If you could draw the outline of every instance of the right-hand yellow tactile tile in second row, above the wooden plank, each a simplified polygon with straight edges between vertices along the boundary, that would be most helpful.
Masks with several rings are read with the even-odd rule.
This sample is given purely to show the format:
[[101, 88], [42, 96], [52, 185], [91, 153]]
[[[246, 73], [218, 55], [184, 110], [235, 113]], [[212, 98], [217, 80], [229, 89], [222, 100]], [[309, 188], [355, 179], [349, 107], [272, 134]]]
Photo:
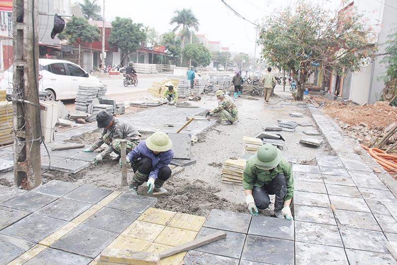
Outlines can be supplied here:
[[167, 226], [154, 240], [154, 243], [175, 247], [181, 245], [182, 243], [194, 240], [197, 234], [198, 232], [195, 231]]

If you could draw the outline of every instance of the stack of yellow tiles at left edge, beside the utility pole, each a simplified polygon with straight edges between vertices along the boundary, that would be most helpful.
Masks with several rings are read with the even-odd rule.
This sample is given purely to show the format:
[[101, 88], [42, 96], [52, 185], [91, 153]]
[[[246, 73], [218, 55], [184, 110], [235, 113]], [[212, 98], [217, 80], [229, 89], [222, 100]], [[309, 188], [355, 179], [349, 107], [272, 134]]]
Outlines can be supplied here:
[[5, 100], [5, 90], [0, 90], [0, 145], [12, 140], [12, 103]]

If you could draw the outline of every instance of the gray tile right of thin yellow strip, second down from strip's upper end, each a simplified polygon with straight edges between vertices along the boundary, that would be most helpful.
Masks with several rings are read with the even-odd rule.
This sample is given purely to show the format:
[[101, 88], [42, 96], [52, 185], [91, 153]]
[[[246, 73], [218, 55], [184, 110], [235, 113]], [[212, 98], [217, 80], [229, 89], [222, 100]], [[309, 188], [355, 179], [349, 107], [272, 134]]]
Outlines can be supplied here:
[[104, 207], [88, 218], [83, 225], [120, 234], [129, 227], [139, 215], [138, 213]]

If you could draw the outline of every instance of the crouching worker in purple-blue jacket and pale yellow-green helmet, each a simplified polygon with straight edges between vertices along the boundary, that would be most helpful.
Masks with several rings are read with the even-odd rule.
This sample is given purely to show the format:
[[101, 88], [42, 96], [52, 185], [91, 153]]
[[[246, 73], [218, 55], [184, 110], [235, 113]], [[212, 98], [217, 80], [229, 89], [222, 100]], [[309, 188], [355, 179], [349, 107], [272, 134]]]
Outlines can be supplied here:
[[149, 187], [147, 194], [167, 192], [163, 184], [171, 177], [171, 169], [168, 167], [174, 157], [171, 147], [172, 142], [167, 134], [155, 132], [127, 155], [127, 164], [132, 162], [131, 167], [134, 172], [130, 191], [137, 194], [138, 186], [146, 181], [146, 186]]

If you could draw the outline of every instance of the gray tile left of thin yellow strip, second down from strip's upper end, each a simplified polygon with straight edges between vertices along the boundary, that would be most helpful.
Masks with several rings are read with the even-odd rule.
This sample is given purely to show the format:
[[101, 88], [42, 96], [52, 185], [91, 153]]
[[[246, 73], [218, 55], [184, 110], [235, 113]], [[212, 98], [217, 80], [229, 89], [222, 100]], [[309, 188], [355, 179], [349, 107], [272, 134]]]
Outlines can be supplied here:
[[92, 204], [90, 203], [59, 198], [58, 200], [41, 208], [36, 213], [65, 221], [71, 221], [84, 211], [88, 210], [91, 206]]

